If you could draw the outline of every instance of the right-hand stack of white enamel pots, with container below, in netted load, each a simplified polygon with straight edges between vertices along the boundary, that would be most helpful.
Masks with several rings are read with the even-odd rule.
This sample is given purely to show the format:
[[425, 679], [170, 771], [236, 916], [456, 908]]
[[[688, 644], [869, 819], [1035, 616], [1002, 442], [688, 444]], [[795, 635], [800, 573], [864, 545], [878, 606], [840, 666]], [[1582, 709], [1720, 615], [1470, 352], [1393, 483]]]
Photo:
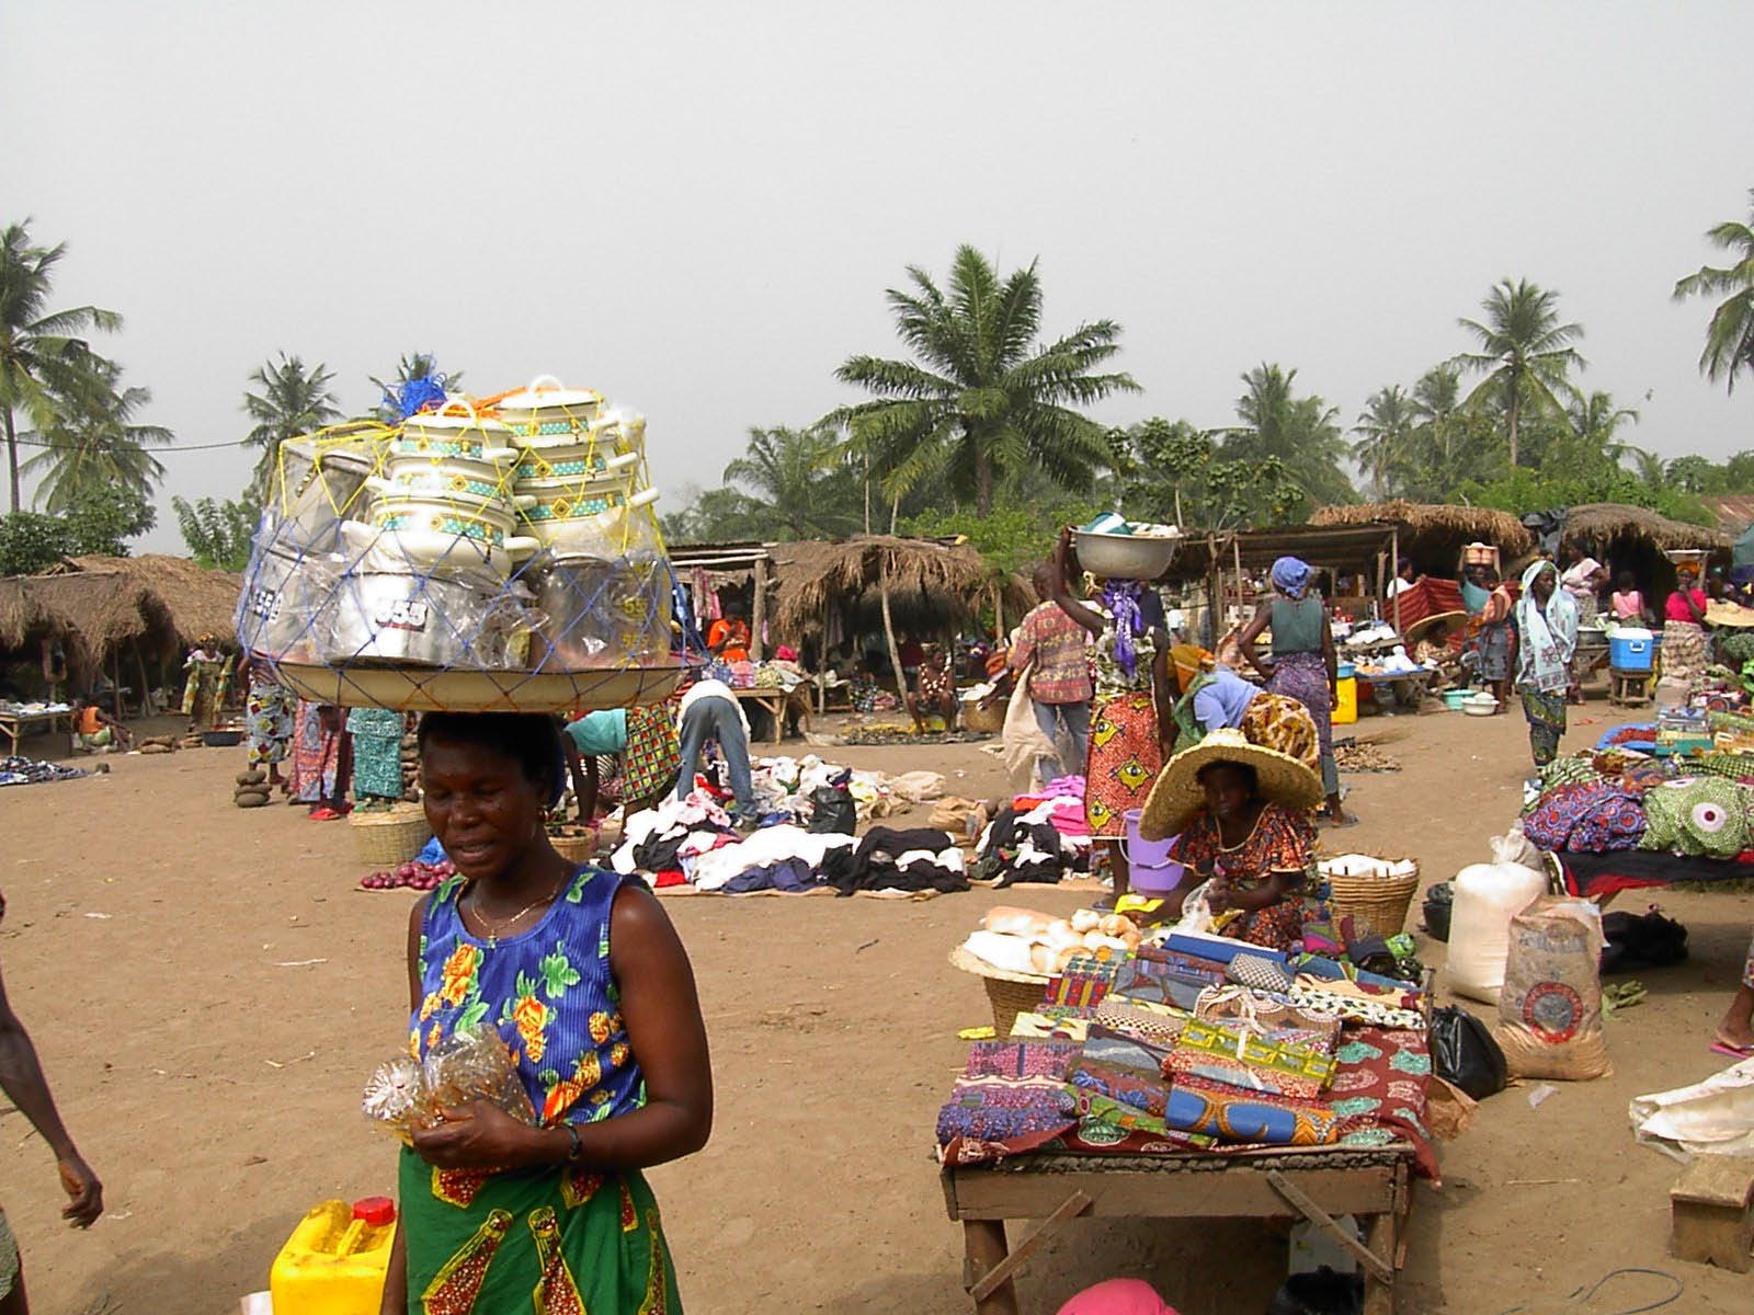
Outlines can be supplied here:
[[535, 668], [649, 666], [670, 652], [670, 570], [644, 482], [645, 421], [607, 410], [591, 389], [537, 379], [500, 398], [517, 449], [519, 537], [540, 558], [531, 584], [544, 617]]

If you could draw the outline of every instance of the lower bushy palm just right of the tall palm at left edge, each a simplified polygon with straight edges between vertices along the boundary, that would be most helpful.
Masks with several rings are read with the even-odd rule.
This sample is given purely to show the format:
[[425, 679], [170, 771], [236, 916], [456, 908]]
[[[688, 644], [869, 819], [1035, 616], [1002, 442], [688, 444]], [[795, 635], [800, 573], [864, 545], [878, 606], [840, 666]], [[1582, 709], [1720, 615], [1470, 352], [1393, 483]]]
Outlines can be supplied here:
[[147, 447], [161, 447], [175, 435], [163, 424], [140, 424], [135, 416], [151, 405], [146, 387], [119, 387], [121, 366], [93, 356], [79, 391], [60, 400], [60, 414], [42, 433], [42, 444], [21, 470], [40, 475], [37, 503], [56, 515], [105, 489], [125, 489], [151, 501], [165, 477], [163, 463]]

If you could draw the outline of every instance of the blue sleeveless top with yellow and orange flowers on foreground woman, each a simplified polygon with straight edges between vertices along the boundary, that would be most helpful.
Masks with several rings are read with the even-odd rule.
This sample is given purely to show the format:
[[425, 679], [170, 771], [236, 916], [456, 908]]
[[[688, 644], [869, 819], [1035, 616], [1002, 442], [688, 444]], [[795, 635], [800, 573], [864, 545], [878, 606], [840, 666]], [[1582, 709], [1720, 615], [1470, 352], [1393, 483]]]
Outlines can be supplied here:
[[621, 1022], [609, 971], [609, 912], [626, 877], [584, 866], [530, 931], [481, 940], [463, 928], [453, 877], [421, 924], [421, 1006], [410, 1019], [416, 1057], [447, 1036], [498, 1027], [530, 1101], [547, 1126], [637, 1110], [645, 1082]]

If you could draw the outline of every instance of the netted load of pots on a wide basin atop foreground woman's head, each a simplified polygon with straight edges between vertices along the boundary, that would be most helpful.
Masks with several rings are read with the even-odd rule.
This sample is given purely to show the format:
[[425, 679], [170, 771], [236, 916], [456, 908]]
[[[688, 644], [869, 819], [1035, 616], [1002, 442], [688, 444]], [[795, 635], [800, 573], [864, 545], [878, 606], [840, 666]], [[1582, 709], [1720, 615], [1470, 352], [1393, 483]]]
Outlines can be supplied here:
[[324, 703], [663, 698], [682, 658], [645, 421], [542, 384], [282, 444], [240, 643]]

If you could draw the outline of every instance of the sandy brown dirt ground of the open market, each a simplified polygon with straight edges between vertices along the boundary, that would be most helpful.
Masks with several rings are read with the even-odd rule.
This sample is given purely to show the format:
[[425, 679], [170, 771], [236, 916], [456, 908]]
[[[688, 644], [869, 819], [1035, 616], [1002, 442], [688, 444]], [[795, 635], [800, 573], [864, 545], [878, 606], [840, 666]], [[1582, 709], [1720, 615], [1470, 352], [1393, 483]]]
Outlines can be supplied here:
[[[1608, 722], [1593, 703], [1572, 742]], [[1521, 717], [1366, 719], [1358, 735], [1405, 770], [1349, 778], [1363, 824], [1330, 847], [1410, 854], [1428, 880], [1489, 857], [1528, 766]], [[1002, 789], [973, 745], [837, 756], [940, 770], [972, 796]], [[393, 1143], [361, 1120], [358, 1094], [405, 1034], [414, 896], [354, 889], [346, 824], [233, 808], [237, 750], [109, 763], [105, 777], [0, 791], [7, 989], [109, 1210], [88, 1234], [63, 1229], [49, 1155], [12, 1110], [4, 1205], [37, 1311], [219, 1315], [267, 1287], [310, 1203], [393, 1187]], [[965, 1054], [956, 1029], [989, 1020], [979, 980], [945, 956], [1000, 901], [1070, 912], [1082, 898], [667, 901], [700, 977], [719, 1099], [710, 1145], [651, 1175], [691, 1311], [972, 1310], [933, 1122]], [[1661, 903], [1687, 924], [1691, 961], [1645, 973], [1647, 1003], [1607, 1024], [1612, 1077], [1538, 1108], [1512, 1087], [1444, 1148], [1442, 1191], [1417, 1194], [1403, 1311], [1607, 1313], [1666, 1292], [1628, 1278], [1561, 1306], [1619, 1266], [1682, 1278], [1670, 1310], [1749, 1310], [1747, 1276], [1666, 1254], [1677, 1166], [1633, 1143], [1626, 1105], [1726, 1063], [1707, 1043], [1754, 898]], [[1422, 943], [1440, 963], [1442, 945]], [[1265, 1310], [1282, 1273], [1282, 1236], [1254, 1222], [1073, 1222], [1019, 1292], [1037, 1315], [1138, 1275], [1184, 1315], [1230, 1315]]]

